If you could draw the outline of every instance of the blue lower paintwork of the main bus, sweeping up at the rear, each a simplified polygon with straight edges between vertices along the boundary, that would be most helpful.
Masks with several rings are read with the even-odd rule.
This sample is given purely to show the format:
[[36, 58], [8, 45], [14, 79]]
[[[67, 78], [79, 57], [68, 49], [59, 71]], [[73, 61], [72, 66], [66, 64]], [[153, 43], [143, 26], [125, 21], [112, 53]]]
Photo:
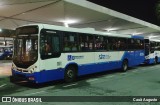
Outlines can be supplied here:
[[[139, 54], [140, 52], [143, 52], [143, 51], [138, 51], [137, 53]], [[134, 53], [133, 51], [125, 52], [120, 61], [101, 62], [101, 63], [97, 62], [97, 63], [78, 65], [78, 76], [96, 73], [96, 72], [120, 69], [124, 59], [128, 59], [129, 67], [133, 67], [144, 62], [144, 57], [136, 58], [134, 56], [135, 54], [133, 53]], [[33, 74], [26, 74], [26, 73], [21, 73], [21, 72], [12, 70], [12, 73], [13, 73], [13, 76], [19, 74], [19, 75], [23, 75], [27, 79], [29, 77], [35, 77], [35, 81], [32, 81], [32, 82], [43, 83], [43, 82], [49, 82], [53, 80], [64, 79], [64, 71], [65, 71], [65, 68], [53, 69], [53, 70], [42, 70], [40, 72], [35, 72]]]

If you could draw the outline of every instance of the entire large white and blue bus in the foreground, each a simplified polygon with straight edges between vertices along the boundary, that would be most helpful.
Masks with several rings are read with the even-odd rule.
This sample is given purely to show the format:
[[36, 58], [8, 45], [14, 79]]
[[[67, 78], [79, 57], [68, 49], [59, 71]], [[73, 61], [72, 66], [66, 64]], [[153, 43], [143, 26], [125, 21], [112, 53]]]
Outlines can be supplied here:
[[18, 27], [12, 77], [34, 83], [133, 67], [144, 62], [144, 38], [94, 29], [35, 24]]

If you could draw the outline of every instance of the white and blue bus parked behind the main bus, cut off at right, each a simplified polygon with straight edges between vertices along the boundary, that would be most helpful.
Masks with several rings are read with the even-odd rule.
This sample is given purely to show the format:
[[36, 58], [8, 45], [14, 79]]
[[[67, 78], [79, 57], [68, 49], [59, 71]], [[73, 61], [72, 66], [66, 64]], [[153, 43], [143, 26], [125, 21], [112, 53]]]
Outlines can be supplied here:
[[160, 62], [160, 40], [145, 39], [145, 63], [157, 64]]

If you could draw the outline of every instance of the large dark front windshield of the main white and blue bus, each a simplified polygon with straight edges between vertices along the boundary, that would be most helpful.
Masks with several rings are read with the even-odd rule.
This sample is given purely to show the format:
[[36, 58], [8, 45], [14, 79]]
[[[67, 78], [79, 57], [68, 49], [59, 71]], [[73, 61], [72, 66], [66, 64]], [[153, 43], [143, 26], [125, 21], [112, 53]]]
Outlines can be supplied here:
[[16, 30], [13, 62], [18, 67], [27, 68], [34, 64], [38, 58], [38, 31], [37, 34], [35, 32], [32, 34], [30, 29], [31, 27], [23, 27], [18, 29], [18, 32]]

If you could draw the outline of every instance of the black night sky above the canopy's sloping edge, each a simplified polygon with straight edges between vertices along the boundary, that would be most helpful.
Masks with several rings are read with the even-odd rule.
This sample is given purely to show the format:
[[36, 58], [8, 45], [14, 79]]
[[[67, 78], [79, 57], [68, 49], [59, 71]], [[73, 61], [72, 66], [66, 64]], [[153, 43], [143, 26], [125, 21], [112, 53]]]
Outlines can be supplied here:
[[101, 6], [160, 26], [156, 15], [159, 0], [88, 0]]

